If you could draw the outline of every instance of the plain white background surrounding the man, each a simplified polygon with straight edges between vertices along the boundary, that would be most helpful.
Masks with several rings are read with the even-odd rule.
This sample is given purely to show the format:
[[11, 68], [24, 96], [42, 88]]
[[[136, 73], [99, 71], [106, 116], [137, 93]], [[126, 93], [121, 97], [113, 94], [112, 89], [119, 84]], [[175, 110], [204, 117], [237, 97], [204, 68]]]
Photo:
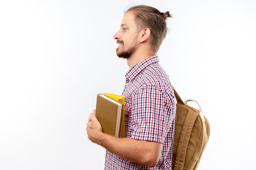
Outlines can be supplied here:
[[112, 37], [132, 3], [173, 14], [158, 54], [209, 119], [198, 170], [254, 167], [255, 0], [1, 0], [0, 170], [103, 169], [85, 127], [97, 93], [124, 88]]

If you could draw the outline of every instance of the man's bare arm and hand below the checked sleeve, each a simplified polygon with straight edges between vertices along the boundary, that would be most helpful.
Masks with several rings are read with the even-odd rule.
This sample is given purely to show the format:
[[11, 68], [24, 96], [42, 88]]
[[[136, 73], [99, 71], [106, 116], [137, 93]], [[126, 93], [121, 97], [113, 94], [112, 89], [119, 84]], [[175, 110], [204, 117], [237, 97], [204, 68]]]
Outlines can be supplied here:
[[161, 143], [132, 138], [118, 138], [103, 133], [101, 124], [95, 116], [95, 110], [90, 114], [86, 130], [88, 139], [92, 142], [129, 161], [154, 167], [161, 157], [163, 147]]

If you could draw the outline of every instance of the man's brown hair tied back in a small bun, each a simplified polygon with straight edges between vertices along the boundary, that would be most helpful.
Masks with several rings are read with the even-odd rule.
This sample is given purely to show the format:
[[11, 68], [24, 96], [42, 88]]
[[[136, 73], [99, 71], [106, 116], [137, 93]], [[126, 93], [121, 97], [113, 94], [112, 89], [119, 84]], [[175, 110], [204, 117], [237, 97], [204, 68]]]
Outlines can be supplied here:
[[135, 15], [137, 29], [150, 29], [150, 44], [153, 53], [157, 53], [167, 34], [166, 19], [172, 17], [169, 11], [163, 13], [154, 7], [146, 5], [137, 5], [130, 7], [125, 11], [132, 12]]

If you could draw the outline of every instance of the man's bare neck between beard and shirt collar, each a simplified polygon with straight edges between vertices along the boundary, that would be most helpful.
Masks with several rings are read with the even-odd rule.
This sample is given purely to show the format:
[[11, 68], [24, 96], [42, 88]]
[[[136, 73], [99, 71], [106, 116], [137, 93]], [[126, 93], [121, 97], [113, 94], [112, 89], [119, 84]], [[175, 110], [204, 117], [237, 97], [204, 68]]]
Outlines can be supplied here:
[[127, 58], [127, 65], [132, 68], [140, 61], [144, 60], [147, 57], [150, 57], [154, 55], [154, 53], [151, 53], [149, 51], [136, 51], [134, 54], [132, 54], [129, 58]]

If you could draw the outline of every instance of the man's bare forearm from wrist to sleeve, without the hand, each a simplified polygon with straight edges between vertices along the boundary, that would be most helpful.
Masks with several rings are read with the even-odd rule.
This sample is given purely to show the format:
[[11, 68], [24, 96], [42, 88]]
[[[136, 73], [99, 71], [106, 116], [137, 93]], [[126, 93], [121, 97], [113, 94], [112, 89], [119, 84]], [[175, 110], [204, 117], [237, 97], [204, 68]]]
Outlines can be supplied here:
[[101, 133], [99, 138], [99, 145], [132, 162], [153, 167], [161, 157], [162, 144], [158, 142], [118, 138], [105, 133]]

